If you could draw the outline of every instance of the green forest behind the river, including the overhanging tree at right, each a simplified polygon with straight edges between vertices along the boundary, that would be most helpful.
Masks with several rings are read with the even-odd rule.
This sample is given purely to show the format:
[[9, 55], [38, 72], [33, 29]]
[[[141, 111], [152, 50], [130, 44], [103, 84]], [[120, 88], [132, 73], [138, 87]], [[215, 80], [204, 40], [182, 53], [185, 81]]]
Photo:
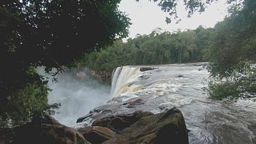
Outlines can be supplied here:
[[256, 97], [256, 1], [228, 1], [228, 15], [214, 28], [161, 31], [116, 41], [99, 52], [84, 54], [78, 66], [111, 71], [122, 65], [152, 65], [208, 61], [212, 99]]

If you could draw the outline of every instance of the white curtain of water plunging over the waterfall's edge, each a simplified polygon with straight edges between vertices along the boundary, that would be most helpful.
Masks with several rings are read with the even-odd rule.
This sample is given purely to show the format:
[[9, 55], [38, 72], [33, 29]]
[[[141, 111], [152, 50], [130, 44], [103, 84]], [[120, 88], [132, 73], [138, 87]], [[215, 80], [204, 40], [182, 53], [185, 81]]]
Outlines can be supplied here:
[[140, 77], [140, 67], [123, 66], [113, 70], [111, 81], [111, 95], [118, 97], [121, 93], [140, 90], [140, 86], [132, 86], [131, 82]]

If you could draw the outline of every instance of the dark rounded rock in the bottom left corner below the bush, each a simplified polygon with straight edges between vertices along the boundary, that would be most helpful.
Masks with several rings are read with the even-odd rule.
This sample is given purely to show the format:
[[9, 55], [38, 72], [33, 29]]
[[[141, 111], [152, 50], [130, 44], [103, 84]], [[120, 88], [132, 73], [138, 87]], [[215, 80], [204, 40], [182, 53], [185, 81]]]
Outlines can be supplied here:
[[[32, 122], [8, 129], [5, 138], [10, 138], [10, 143], [18, 144], [85, 144], [82, 134], [76, 129], [60, 124], [48, 115], [35, 118]], [[2, 135], [2, 134], [0, 134]], [[9, 136], [8, 136], [9, 135]], [[2, 143], [2, 142], [1, 142]]]

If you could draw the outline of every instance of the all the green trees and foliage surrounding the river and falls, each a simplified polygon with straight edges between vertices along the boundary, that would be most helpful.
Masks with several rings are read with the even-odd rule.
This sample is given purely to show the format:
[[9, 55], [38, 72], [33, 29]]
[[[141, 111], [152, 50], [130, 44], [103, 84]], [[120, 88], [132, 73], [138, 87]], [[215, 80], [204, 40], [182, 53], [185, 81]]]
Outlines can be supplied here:
[[[138, 0], [134, 0], [138, 1]], [[183, 1], [188, 17], [218, 0]], [[166, 22], [177, 16], [177, 0], [154, 1]], [[40, 113], [53, 113], [45, 67], [52, 76], [64, 67], [87, 65], [112, 70], [120, 65], [209, 61], [207, 92], [214, 99], [252, 99], [256, 93], [256, 1], [227, 0], [228, 15], [215, 28], [159, 29], [122, 42], [131, 25], [118, 10], [120, 0], [0, 1], [0, 127], [22, 125]], [[112, 45], [113, 44], [113, 45]], [[109, 46], [112, 45], [112, 46]], [[101, 51], [99, 51], [101, 49]], [[97, 52], [98, 51], [98, 52]], [[86, 53], [86, 54], [84, 54]], [[79, 61], [79, 62], [77, 62]], [[56, 73], [51, 73], [56, 68]]]

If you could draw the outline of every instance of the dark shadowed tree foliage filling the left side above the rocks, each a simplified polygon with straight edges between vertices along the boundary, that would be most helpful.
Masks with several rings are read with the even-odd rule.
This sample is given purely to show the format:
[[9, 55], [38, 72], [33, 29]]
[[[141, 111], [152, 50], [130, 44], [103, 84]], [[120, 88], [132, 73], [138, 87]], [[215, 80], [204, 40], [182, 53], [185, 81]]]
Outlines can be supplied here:
[[36, 67], [63, 71], [84, 52], [128, 35], [130, 19], [118, 10], [118, 3], [0, 1], [1, 125], [23, 124], [36, 113], [58, 106], [47, 104], [47, 79]]

